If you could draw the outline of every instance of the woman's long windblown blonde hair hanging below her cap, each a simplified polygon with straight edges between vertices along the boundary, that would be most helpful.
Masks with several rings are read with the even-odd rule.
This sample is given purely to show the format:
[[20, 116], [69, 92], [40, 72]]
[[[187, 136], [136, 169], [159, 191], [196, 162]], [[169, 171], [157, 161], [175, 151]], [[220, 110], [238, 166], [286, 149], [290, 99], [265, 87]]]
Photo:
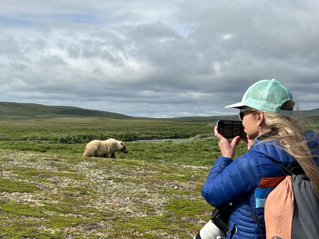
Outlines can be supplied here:
[[[282, 109], [292, 110], [293, 102], [286, 102]], [[257, 110], [252, 109], [252, 111]], [[314, 162], [316, 156], [312, 155], [307, 140], [303, 136], [304, 124], [297, 117], [269, 112], [263, 112], [263, 114], [265, 124], [271, 128], [271, 135], [262, 141], [275, 140], [287, 153], [293, 156], [314, 185], [319, 198], [319, 170]]]

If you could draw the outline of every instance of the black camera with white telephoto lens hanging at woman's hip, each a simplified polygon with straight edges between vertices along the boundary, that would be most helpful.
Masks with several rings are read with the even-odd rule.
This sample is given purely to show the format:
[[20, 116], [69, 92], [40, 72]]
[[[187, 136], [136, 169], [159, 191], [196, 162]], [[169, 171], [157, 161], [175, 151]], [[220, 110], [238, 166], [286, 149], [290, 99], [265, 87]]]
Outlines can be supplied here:
[[211, 220], [200, 229], [193, 239], [225, 239], [228, 231], [228, 222], [231, 214], [231, 206], [215, 208], [211, 214]]

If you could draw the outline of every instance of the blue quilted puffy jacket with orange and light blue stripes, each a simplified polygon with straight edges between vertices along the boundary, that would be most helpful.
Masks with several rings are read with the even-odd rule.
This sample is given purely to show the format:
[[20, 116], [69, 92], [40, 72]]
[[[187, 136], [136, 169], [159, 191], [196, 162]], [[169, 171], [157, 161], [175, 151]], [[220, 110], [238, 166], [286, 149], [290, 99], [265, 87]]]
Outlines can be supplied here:
[[[308, 142], [309, 148], [318, 155], [318, 135], [312, 131], [307, 131], [306, 135], [312, 138]], [[259, 226], [263, 238], [266, 238], [265, 201], [271, 190], [285, 177], [273, 161], [288, 169], [299, 166], [278, 142], [259, 142], [257, 138], [246, 154], [234, 160], [228, 157], [216, 159], [202, 189], [204, 199], [214, 207], [232, 203], [227, 239], [261, 238], [251, 210], [260, 218]], [[318, 165], [317, 159], [316, 163]]]

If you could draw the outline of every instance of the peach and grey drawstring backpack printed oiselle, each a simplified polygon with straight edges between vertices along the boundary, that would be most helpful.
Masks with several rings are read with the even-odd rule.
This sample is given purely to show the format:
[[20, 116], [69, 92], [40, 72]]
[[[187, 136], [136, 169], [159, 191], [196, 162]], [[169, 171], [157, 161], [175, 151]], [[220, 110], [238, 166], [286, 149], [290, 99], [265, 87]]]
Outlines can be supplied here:
[[[278, 163], [277, 163], [278, 164]], [[266, 239], [319, 238], [319, 199], [306, 174], [286, 175], [265, 203]], [[298, 167], [300, 170], [301, 167]], [[292, 169], [293, 171], [293, 169]]]

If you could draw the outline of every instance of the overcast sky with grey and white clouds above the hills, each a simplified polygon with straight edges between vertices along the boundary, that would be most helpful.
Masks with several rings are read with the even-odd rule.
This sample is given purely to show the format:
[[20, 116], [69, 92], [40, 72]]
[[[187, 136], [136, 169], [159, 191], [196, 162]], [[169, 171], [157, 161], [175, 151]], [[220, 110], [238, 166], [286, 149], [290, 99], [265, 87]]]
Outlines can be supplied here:
[[275, 78], [319, 108], [318, 12], [315, 0], [2, 0], [0, 101], [227, 115]]

